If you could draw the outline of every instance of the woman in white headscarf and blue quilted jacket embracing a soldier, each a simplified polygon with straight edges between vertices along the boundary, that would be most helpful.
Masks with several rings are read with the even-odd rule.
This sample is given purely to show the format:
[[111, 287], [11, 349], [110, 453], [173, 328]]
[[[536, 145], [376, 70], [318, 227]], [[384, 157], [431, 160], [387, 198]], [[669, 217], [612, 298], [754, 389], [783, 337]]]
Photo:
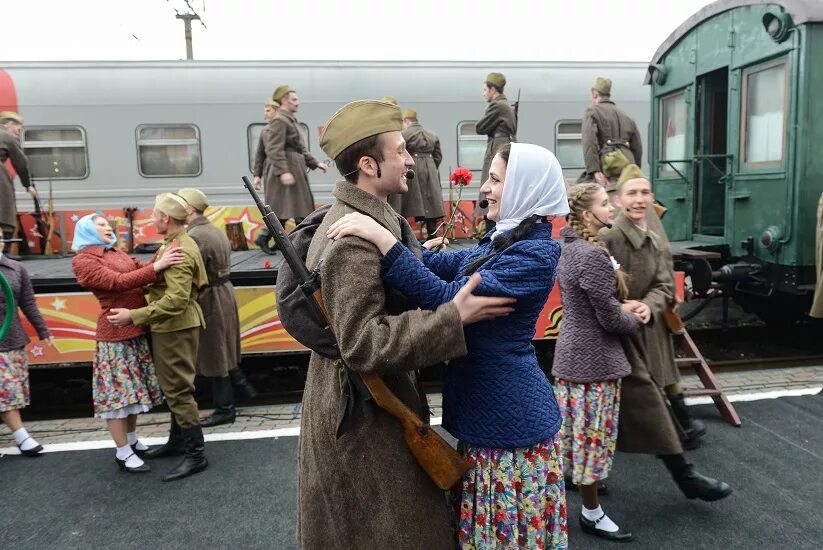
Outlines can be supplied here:
[[434, 253], [435, 239], [419, 258], [356, 213], [328, 235], [374, 243], [384, 283], [423, 309], [453, 299], [475, 272], [482, 278], [475, 294], [516, 299], [508, 316], [464, 327], [468, 355], [446, 369], [443, 427], [472, 466], [452, 489], [458, 546], [566, 548], [562, 419], [531, 343], [560, 257], [550, 217], [569, 211], [562, 169], [537, 145], [504, 146], [480, 193], [497, 225], [474, 248]]

